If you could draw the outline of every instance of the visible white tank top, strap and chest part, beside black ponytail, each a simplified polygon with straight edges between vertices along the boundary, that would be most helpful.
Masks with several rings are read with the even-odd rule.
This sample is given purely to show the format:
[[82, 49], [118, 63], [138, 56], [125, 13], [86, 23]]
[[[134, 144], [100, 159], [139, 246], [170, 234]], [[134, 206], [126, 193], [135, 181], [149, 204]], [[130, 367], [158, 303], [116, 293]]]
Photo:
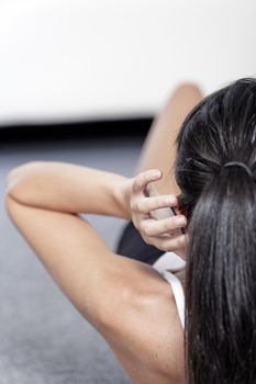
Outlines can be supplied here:
[[186, 261], [175, 252], [165, 252], [159, 257], [159, 259], [155, 261], [152, 267], [156, 269], [162, 274], [162, 276], [170, 283], [179, 318], [182, 328], [185, 329], [185, 293], [180, 280], [176, 278], [176, 275], [171, 272], [182, 270], [186, 267]]

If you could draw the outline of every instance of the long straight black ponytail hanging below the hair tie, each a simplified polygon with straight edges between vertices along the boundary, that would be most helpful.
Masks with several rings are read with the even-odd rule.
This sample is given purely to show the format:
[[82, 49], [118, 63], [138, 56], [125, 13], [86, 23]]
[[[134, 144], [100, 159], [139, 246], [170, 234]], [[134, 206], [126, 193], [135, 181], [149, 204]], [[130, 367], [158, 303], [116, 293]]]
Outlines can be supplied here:
[[188, 383], [256, 383], [256, 185], [241, 167], [204, 187], [187, 258]]

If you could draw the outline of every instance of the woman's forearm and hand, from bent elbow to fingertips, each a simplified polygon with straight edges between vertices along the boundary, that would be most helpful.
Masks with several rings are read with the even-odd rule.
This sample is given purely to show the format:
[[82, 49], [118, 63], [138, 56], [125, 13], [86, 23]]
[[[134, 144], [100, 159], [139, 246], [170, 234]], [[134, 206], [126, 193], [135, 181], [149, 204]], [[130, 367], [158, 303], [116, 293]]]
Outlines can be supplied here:
[[151, 182], [160, 178], [162, 173], [158, 171], [157, 176], [154, 169], [125, 178], [73, 163], [35, 161], [11, 171], [8, 193], [27, 206], [132, 219], [146, 244], [178, 253], [186, 246], [187, 238], [176, 229], [186, 225], [186, 217], [179, 215], [185, 219], [183, 224], [177, 223], [179, 216], [153, 217], [153, 211], [178, 204], [174, 194], [148, 195]]

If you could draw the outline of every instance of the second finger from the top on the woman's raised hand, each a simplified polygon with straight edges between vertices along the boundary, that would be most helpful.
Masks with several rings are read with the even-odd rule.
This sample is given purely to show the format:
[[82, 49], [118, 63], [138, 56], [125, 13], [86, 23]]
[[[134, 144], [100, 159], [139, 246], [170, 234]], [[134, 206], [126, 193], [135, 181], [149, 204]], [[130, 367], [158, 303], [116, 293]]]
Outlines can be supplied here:
[[[178, 200], [175, 195], [163, 194], [153, 197], [138, 197], [132, 202], [132, 208], [140, 213], [149, 213], [157, 208], [164, 208], [178, 205]], [[170, 215], [172, 213], [170, 212]]]

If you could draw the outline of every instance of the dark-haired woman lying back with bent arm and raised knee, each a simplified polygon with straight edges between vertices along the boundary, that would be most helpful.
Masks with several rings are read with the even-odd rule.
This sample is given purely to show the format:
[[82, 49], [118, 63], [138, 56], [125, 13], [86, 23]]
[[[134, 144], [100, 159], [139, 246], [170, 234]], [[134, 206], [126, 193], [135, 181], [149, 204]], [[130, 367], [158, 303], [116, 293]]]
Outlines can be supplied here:
[[[256, 80], [201, 99], [194, 86], [177, 89], [135, 178], [55, 162], [9, 176], [12, 221], [133, 383], [256, 382]], [[163, 207], [178, 216], [157, 218]], [[132, 221], [149, 259], [116, 257], [79, 213]], [[149, 266], [166, 251], [186, 258], [186, 273]]]

